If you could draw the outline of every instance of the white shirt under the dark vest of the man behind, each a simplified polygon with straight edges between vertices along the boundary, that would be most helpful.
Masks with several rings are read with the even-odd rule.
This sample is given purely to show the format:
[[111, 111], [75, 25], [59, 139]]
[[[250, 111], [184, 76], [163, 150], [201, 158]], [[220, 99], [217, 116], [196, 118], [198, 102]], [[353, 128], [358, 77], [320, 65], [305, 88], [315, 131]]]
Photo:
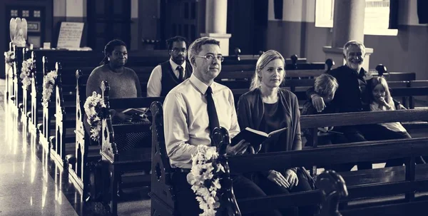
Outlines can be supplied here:
[[[177, 70], [178, 64], [175, 63], [171, 58], [169, 60], [171, 68], [173, 68], [174, 74], [177, 78], [180, 76], [180, 71]], [[183, 67], [183, 73], [185, 74], [185, 61], [181, 64]], [[162, 67], [161, 65], [153, 68], [150, 78], [147, 83], [147, 96], [148, 97], [159, 97], [162, 92]]]

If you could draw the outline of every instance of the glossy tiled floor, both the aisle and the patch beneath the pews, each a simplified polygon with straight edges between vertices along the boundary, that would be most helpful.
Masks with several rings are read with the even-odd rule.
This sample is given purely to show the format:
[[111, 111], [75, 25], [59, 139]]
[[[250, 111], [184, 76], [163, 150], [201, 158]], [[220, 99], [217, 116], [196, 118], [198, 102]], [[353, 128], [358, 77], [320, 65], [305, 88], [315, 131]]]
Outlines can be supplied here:
[[[4, 101], [0, 79], [0, 216], [105, 215], [81, 193], [29, 133], [13, 106]], [[124, 190], [118, 215], [150, 215], [147, 190]], [[98, 207], [99, 205], [97, 205]]]

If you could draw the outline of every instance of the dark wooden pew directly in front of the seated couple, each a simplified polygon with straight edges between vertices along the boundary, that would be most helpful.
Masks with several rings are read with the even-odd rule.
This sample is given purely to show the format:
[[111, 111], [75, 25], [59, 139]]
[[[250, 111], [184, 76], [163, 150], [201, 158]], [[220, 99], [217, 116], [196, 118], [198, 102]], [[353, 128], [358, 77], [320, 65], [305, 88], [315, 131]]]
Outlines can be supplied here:
[[[245, 155], [228, 158], [230, 170], [240, 170], [242, 172], [253, 172], [260, 170], [279, 169], [309, 166], [328, 165], [338, 163], [387, 160], [389, 158], [408, 158], [406, 163], [406, 175], [404, 181], [369, 183], [362, 185], [352, 185], [348, 187], [350, 197], [347, 202], [365, 197], [382, 197], [399, 194], [406, 194], [407, 200], [412, 200], [415, 191], [427, 190], [428, 178], [427, 165], [414, 165], [414, 157], [419, 154], [427, 154], [427, 138], [414, 138], [409, 140], [385, 140], [377, 142], [352, 143], [344, 145], [333, 145], [329, 148], [319, 148], [311, 150], [301, 150], [300, 152], [269, 153], [260, 155]], [[388, 154], [385, 154], [388, 152]], [[367, 154], [370, 153], [370, 154]], [[309, 160], [310, 158], [310, 160]], [[252, 164], [253, 166], [248, 166]], [[402, 169], [396, 167], [395, 169]], [[420, 168], [420, 169], [419, 169]], [[387, 170], [391, 170], [387, 172]], [[389, 175], [397, 175], [394, 168], [383, 168], [371, 170], [373, 172], [384, 173], [384, 178]], [[351, 173], [359, 173], [352, 171]], [[386, 173], [387, 172], [387, 173]], [[416, 179], [417, 173], [419, 178]], [[347, 180], [345, 178], [345, 180]], [[314, 190], [310, 192], [298, 192], [290, 195], [276, 195], [268, 197], [249, 198], [238, 200], [238, 205], [243, 213], [255, 212], [262, 207], [291, 207], [315, 205], [321, 201], [320, 194]]]

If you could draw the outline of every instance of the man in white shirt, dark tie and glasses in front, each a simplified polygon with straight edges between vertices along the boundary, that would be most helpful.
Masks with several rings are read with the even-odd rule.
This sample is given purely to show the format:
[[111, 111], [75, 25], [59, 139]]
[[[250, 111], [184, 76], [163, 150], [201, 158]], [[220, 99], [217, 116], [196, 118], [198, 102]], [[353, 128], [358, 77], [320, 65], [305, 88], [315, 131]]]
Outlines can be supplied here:
[[[195, 193], [186, 179], [192, 167], [191, 155], [197, 152], [197, 145], [211, 146], [210, 133], [219, 126], [227, 129], [231, 138], [240, 132], [232, 91], [214, 82], [221, 71], [223, 59], [219, 41], [208, 37], [195, 40], [189, 48], [192, 75], [173, 88], [163, 103], [165, 145], [170, 165], [175, 168], [172, 178], [180, 215], [201, 213]], [[246, 151], [254, 153], [255, 150], [245, 140], [226, 148], [228, 155]], [[236, 197], [265, 196], [260, 187], [243, 175], [233, 175], [232, 178]], [[262, 215], [280, 213], [267, 210]]]

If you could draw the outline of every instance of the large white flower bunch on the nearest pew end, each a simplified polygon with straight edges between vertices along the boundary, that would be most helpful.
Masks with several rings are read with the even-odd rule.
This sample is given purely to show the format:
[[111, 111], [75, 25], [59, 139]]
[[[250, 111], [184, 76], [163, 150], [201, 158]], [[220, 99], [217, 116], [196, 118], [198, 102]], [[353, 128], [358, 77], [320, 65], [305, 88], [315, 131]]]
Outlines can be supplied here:
[[198, 145], [197, 153], [192, 155], [192, 169], [187, 175], [187, 180], [192, 185], [199, 207], [203, 210], [200, 215], [214, 216], [220, 202], [217, 190], [221, 188], [220, 172], [225, 173], [223, 165], [216, 162], [218, 152], [215, 148], [206, 145]]

